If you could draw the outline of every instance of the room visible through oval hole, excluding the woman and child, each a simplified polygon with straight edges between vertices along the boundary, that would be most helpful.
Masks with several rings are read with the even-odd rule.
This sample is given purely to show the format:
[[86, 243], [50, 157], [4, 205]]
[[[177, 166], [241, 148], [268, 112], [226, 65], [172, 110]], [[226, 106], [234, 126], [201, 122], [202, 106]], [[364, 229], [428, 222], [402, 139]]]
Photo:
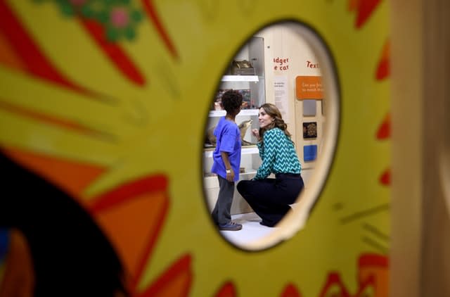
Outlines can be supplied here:
[[[243, 225], [238, 231], [218, 228], [219, 234], [233, 246], [261, 251], [306, 227], [328, 177], [338, 139], [340, 100], [334, 65], [321, 37], [296, 22], [264, 27], [229, 61], [207, 115], [203, 187], [213, 225], [224, 208], [229, 208], [233, 222]], [[221, 96], [230, 89], [238, 91], [243, 98], [242, 109], [235, 118], [242, 141], [238, 182], [255, 177], [262, 164], [258, 139], [252, 129], [259, 129], [259, 107], [264, 103], [273, 103], [280, 110], [302, 165], [304, 188], [290, 205], [291, 210], [274, 227], [260, 224], [261, 217], [236, 189], [238, 182], [234, 185], [231, 207], [217, 204], [219, 177], [217, 172], [212, 172], [217, 148], [214, 129], [226, 115]], [[216, 154], [219, 156], [219, 151]]]

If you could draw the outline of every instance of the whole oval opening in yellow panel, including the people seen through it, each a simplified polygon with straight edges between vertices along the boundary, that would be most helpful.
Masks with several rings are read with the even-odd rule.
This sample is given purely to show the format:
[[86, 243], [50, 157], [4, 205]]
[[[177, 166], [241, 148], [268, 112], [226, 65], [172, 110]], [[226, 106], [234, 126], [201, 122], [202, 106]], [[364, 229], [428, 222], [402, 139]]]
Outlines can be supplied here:
[[[227, 111], [222, 102], [222, 99], [231, 100], [230, 90], [243, 99], [241, 109], [234, 117], [238, 129], [235, 127], [234, 133], [241, 142], [240, 160], [229, 155], [229, 160], [239, 161], [233, 170], [239, 170], [234, 187], [226, 181], [224, 167], [229, 166], [229, 160], [224, 163], [226, 157], [218, 149], [226, 147], [224, 149], [233, 154], [236, 148], [226, 142], [230, 139], [221, 139], [224, 133], [233, 131], [233, 125], [223, 122], [233, 122], [232, 116], [226, 119]], [[227, 92], [229, 94], [224, 95]], [[233, 56], [211, 100], [204, 131], [203, 187], [212, 224], [224, 239], [247, 251], [270, 248], [301, 232], [320, 198], [338, 137], [338, 80], [323, 40], [314, 30], [297, 22], [264, 27]], [[271, 103], [280, 112], [294, 144], [291, 153], [295, 151], [301, 165], [304, 187], [299, 195], [288, 195], [283, 206], [276, 206], [277, 199], [283, 199], [283, 194], [270, 184], [278, 178], [287, 178], [288, 184], [298, 186], [301, 181], [295, 174], [300, 168], [292, 161], [289, 147], [281, 146], [280, 139], [286, 134], [283, 133], [283, 122], [280, 124], [275, 120], [272, 124], [278, 116], [270, 114], [274, 110], [270, 110], [271, 106], [263, 106], [264, 103]], [[230, 109], [231, 104], [225, 104]], [[264, 127], [264, 131], [260, 129]], [[282, 134], [277, 134], [274, 127]], [[253, 130], [264, 133], [264, 137], [259, 139], [261, 135]], [[261, 139], [264, 139], [263, 146]], [[280, 162], [281, 154], [290, 157]], [[214, 158], [218, 165], [214, 165]], [[274, 172], [267, 175], [269, 169], [293, 175], [280, 177]], [[253, 181], [262, 178], [269, 178], [265, 186], [262, 185], [264, 182]], [[236, 225], [220, 225], [227, 222], [228, 213], [242, 229]]]

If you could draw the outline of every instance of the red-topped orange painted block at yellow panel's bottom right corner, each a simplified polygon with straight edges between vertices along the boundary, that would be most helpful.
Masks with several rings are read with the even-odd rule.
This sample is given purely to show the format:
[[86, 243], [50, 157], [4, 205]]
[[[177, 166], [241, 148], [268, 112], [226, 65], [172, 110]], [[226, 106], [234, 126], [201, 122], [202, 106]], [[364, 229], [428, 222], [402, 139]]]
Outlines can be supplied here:
[[367, 254], [359, 258], [358, 281], [364, 289], [371, 282], [375, 295], [385, 297], [389, 295], [389, 260], [385, 255]]

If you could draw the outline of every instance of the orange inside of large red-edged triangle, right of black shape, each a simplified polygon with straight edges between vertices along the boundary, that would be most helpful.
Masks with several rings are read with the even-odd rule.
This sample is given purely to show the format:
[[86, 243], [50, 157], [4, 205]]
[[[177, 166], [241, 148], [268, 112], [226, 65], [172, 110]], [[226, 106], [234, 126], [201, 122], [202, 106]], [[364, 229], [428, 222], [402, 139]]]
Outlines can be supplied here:
[[167, 206], [165, 191], [153, 191], [127, 197], [94, 215], [134, 283], [139, 281], [143, 267], [148, 265]]

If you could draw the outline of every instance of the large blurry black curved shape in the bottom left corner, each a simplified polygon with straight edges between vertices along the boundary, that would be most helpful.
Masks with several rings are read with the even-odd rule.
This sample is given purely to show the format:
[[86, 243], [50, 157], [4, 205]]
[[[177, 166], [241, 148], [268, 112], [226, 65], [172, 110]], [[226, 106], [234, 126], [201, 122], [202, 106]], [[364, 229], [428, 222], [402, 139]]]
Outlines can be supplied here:
[[2, 151], [0, 171], [0, 227], [27, 239], [34, 296], [129, 296], [120, 259], [79, 203]]

